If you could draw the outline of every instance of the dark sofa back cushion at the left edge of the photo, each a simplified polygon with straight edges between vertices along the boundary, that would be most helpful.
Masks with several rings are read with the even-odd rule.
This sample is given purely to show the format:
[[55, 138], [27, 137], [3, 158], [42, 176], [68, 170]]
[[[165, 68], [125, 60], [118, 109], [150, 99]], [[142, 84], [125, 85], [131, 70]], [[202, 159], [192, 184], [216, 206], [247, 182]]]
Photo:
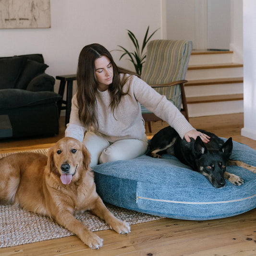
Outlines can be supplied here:
[[25, 61], [25, 57], [0, 58], [0, 89], [14, 88]]

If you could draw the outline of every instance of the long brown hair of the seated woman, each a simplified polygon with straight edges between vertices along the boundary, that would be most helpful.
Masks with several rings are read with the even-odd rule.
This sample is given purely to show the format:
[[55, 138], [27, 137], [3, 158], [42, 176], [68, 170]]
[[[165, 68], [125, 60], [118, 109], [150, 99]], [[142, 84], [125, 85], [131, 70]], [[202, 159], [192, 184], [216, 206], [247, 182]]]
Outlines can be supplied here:
[[113, 61], [110, 52], [100, 44], [86, 45], [80, 52], [77, 67], [77, 104], [78, 114], [80, 122], [85, 125], [86, 129], [91, 127], [98, 129], [97, 120], [97, 101], [96, 95], [98, 93], [98, 81], [95, 75], [95, 60], [106, 56], [110, 59], [113, 67], [113, 81], [109, 85], [110, 93], [110, 108], [114, 112], [114, 109], [120, 103], [121, 97], [126, 95], [127, 92], [122, 91], [123, 85], [127, 82], [129, 77], [120, 80], [120, 73], [127, 73], [137, 75], [129, 70], [120, 68]]

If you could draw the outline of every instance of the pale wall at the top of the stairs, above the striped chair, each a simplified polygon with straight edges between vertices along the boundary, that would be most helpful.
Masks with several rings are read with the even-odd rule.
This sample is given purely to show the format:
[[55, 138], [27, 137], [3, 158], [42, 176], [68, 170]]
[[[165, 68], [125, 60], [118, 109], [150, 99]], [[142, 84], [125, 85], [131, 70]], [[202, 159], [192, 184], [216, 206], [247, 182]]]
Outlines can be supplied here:
[[[213, 4], [217, 10], [211, 12]], [[221, 16], [218, 24], [216, 21], [218, 13], [223, 11], [223, 4], [227, 14]], [[224, 48], [234, 50], [234, 61], [243, 62], [243, 0], [166, 0], [166, 10], [168, 39], [190, 39], [194, 49], [223, 49], [225, 43]], [[214, 22], [211, 23], [211, 20]], [[228, 30], [227, 33], [225, 30]], [[223, 42], [220, 39], [224, 37], [218, 36], [221, 33], [227, 36]]]

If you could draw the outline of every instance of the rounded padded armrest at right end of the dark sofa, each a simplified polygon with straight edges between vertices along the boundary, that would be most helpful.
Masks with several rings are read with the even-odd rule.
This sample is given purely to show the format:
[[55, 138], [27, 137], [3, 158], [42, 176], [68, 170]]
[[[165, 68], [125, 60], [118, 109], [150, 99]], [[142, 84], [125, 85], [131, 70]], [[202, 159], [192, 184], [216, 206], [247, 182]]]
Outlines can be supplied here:
[[39, 91], [53, 91], [55, 84], [55, 78], [49, 74], [42, 73], [33, 78], [27, 85], [27, 91], [39, 92]]

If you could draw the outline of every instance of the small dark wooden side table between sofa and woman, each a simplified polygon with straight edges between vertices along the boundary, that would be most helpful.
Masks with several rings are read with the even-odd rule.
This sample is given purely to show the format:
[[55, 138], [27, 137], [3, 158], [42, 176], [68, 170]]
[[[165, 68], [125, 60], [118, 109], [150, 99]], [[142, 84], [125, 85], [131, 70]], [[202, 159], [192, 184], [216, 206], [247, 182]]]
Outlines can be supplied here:
[[[62, 97], [58, 104], [59, 115], [61, 114], [61, 110], [66, 110], [65, 116], [65, 124], [69, 122], [70, 112], [71, 112], [71, 100], [72, 100], [72, 93], [73, 93], [73, 81], [76, 80], [76, 74], [67, 74], [67, 75], [57, 75], [56, 79], [61, 80], [59, 94]], [[67, 94], [66, 100], [63, 100], [65, 86], [67, 84]], [[64, 104], [64, 106], [63, 106]]]

